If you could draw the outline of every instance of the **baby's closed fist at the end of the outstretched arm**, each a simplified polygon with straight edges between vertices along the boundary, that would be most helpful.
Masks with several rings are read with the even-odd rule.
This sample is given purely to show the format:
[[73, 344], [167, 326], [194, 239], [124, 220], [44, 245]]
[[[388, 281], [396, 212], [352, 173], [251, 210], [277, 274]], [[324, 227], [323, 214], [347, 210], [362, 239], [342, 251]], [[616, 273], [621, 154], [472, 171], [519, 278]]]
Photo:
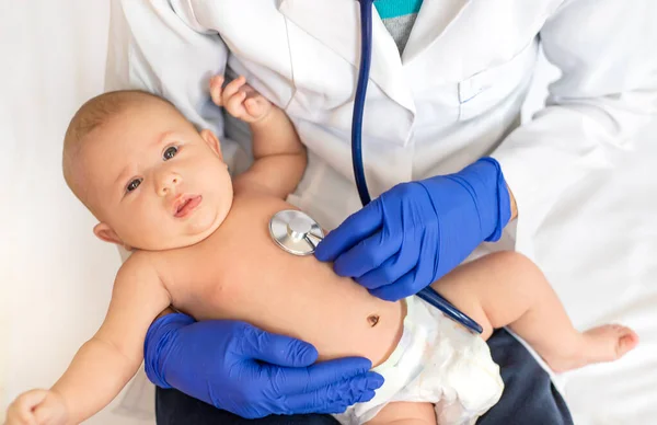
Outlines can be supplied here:
[[67, 418], [61, 395], [54, 391], [32, 390], [11, 403], [4, 425], [64, 425]]

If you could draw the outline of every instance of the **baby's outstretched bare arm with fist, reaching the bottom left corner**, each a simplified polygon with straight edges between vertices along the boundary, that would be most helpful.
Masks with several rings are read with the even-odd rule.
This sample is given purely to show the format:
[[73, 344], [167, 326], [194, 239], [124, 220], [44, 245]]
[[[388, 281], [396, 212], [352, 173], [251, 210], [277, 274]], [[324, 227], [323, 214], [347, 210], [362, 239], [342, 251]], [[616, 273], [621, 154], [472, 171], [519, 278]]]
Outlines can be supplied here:
[[20, 395], [8, 424], [79, 424], [107, 405], [136, 374], [143, 340], [170, 296], [150, 263], [132, 255], [120, 268], [107, 315], [49, 391]]

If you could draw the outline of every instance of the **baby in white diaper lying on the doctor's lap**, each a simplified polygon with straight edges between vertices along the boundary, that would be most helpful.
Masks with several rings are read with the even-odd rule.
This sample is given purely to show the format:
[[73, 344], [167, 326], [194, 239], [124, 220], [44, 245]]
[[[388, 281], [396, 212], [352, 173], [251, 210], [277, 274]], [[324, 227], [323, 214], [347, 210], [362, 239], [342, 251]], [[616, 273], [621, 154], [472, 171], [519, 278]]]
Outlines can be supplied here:
[[99, 219], [94, 233], [134, 253], [101, 329], [50, 390], [12, 403], [9, 424], [77, 424], [100, 411], [137, 371], [147, 330], [170, 306], [308, 341], [320, 360], [370, 359], [385, 382], [336, 415], [348, 424], [473, 423], [503, 391], [485, 344], [496, 328], [508, 325], [556, 371], [614, 360], [636, 345], [619, 325], [576, 331], [541, 272], [516, 253], [485, 256], [431, 285], [483, 325], [475, 335], [415, 297], [383, 301], [331, 264], [285, 252], [268, 222], [293, 208], [284, 199], [301, 179], [304, 148], [285, 113], [243, 77], [222, 83], [211, 80], [212, 100], [253, 134], [254, 163], [232, 181], [217, 137], [152, 94], [105, 93], [72, 118], [66, 181]]

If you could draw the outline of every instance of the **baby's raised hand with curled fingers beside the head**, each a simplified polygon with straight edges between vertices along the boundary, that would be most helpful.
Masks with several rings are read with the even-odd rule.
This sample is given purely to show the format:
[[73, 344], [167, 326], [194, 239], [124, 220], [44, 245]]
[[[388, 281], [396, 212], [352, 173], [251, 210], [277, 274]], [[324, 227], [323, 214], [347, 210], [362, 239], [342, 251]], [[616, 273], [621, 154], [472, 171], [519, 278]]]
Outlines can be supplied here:
[[272, 111], [272, 103], [246, 84], [244, 76], [229, 82], [226, 88], [223, 77], [210, 79], [210, 95], [218, 106], [223, 106], [235, 118], [253, 124], [264, 119]]

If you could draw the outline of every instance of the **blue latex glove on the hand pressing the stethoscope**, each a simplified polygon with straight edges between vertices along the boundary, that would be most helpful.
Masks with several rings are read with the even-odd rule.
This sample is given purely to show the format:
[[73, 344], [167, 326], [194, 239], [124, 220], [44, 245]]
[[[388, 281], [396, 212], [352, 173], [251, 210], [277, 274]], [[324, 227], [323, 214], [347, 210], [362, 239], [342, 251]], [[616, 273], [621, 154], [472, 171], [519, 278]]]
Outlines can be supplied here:
[[454, 174], [394, 186], [330, 232], [315, 256], [395, 301], [449, 273], [482, 241], [498, 240], [510, 215], [499, 164], [484, 158]]

